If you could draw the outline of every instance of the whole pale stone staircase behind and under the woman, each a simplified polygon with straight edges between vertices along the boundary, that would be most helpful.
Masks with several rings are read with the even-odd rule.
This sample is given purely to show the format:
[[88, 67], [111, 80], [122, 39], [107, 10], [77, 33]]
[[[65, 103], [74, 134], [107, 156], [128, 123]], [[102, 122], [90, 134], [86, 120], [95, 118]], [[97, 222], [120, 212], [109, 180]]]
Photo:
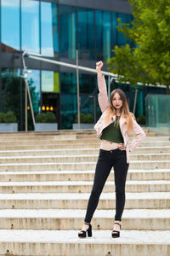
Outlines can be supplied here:
[[[0, 134], [0, 255], [170, 255], [170, 140], [130, 154], [121, 237], [113, 239], [114, 171], [81, 239], [99, 154], [94, 130]], [[130, 137], [131, 142], [133, 137]]]

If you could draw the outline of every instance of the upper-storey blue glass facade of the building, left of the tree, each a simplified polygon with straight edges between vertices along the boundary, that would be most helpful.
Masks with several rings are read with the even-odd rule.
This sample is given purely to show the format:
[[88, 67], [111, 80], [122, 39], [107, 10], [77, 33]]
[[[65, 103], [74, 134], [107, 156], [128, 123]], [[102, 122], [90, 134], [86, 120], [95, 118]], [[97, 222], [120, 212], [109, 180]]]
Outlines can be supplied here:
[[78, 49], [82, 60], [106, 61], [116, 44], [131, 43], [117, 32], [116, 19], [130, 22], [132, 15], [38, 0], [2, 0], [1, 13], [3, 51], [76, 59]]

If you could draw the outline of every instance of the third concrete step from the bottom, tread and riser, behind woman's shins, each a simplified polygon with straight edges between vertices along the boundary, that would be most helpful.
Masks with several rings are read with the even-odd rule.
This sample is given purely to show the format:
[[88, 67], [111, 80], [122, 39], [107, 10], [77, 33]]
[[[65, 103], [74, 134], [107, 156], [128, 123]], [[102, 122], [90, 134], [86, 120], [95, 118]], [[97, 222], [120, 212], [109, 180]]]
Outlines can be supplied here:
[[[89, 193], [0, 194], [0, 209], [85, 209]], [[115, 193], [102, 193], [98, 209], [115, 209]], [[170, 192], [126, 193], [125, 209], [170, 209]]]

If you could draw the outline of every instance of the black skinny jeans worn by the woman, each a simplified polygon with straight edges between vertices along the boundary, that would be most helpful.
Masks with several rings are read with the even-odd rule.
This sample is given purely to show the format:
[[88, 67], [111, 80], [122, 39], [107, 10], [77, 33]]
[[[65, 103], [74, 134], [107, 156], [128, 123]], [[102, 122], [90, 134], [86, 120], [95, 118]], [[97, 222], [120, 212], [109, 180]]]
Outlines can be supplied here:
[[84, 221], [91, 222], [94, 211], [99, 203], [99, 196], [104, 188], [105, 181], [114, 167], [115, 191], [116, 191], [116, 215], [115, 220], [122, 220], [122, 212], [125, 205], [125, 184], [127, 177], [126, 150], [116, 148], [114, 150], [99, 149], [99, 159], [94, 174], [94, 185], [88, 200], [88, 207]]

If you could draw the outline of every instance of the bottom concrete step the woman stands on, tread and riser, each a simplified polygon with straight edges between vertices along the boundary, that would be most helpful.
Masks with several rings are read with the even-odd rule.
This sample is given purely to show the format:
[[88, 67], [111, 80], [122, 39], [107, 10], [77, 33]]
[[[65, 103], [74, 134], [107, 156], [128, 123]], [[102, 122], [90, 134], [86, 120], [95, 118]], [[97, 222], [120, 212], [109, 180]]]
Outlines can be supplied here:
[[0, 230], [0, 251], [12, 255], [43, 256], [167, 256], [169, 230], [121, 230], [117, 239], [111, 230], [93, 230], [93, 236], [78, 237], [78, 230]]

